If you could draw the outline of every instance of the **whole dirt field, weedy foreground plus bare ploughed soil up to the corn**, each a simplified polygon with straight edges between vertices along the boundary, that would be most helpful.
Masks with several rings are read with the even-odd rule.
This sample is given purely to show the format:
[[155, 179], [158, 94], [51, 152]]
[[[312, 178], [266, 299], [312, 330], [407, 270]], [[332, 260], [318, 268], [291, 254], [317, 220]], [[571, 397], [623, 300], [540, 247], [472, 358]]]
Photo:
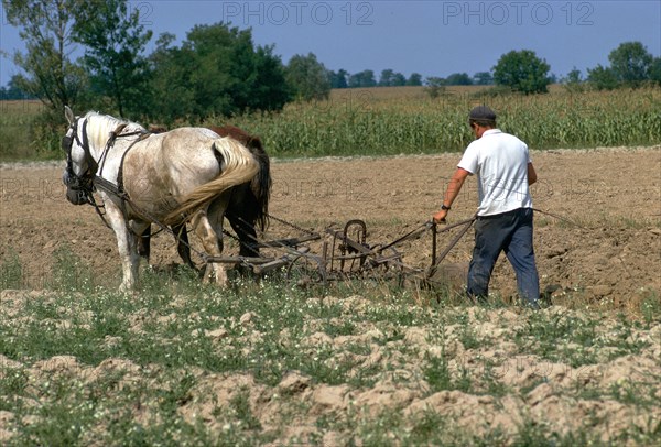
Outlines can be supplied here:
[[[368, 243], [388, 242], [431, 218], [457, 161], [457, 154], [275, 161], [271, 212], [319, 232], [360, 218]], [[99, 284], [119, 284], [115, 237], [91, 207], [66, 201], [59, 164], [0, 166], [0, 260], [18, 255], [23, 288], [33, 290], [0, 292], [7, 337], [0, 444], [56, 444], [50, 426], [57, 434], [69, 427], [71, 444], [139, 439], [126, 427], [143, 430], [143, 444], [185, 444], [177, 432], [185, 422], [218, 445], [466, 445], [481, 436], [494, 445], [551, 445], [551, 438], [658, 445], [661, 327], [658, 315], [641, 325], [626, 320], [661, 291], [661, 146], [548, 151], [533, 153], [533, 162], [534, 206], [571, 221], [535, 216], [541, 285], [554, 291], [555, 304], [535, 313], [379, 306], [333, 291], [304, 303], [264, 295], [248, 308], [234, 307], [247, 304], [227, 299], [225, 291], [198, 298], [204, 304], [173, 296], [156, 313], [140, 295], [127, 308], [93, 304], [105, 301], [102, 291], [59, 296], [43, 290], [58, 247], [88, 263]], [[475, 204], [469, 179], [449, 224], [470, 217]], [[275, 220], [269, 232], [301, 236]], [[447, 265], [462, 271], [472, 243], [469, 232]], [[430, 264], [430, 238], [398, 248], [405, 263]], [[236, 252], [236, 243], [226, 249]], [[171, 236], [154, 238], [151, 263], [181, 263]], [[507, 301], [514, 283], [503, 257], [491, 291]], [[607, 312], [585, 310], [586, 304]], [[47, 313], [35, 317], [40, 308]], [[333, 317], [324, 316], [329, 310]], [[292, 316], [293, 329], [285, 318]], [[106, 321], [126, 330], [111, 336]], [[45, 359], [18, 353], [41, 338], [51, 352], [50, 340], [62, 335], [69, 345]], [[165, 352], [155, 358], [191, 351], [195, 367], [144, 360], [149, 351], [140, 360], [136, 348], [149, 349], [150, 339]], [[107, 357], [86, 359], [88, 350], [76, 353], [80, 346]], [[219, 359], [237, 352], [245, 368], [215, 372]], [[271, 370], [273, 383], [263, 372]], [[187, 385], [178, 395], [182, 378]], [[174, 390], [170, 404], [163, 389]], [[191, 444], [199, 444], [199, 433], [188, 434]]]

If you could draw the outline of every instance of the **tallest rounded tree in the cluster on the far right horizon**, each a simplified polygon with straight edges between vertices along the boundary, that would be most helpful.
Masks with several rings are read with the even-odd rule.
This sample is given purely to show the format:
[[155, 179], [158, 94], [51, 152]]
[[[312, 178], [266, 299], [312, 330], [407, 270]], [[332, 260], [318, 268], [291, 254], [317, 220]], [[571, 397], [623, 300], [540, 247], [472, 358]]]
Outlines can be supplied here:
[[640, 42], [625, 42], [608, 55], [610, 69], [619, 83], [639, 87], [649, 79], [653, 56]]

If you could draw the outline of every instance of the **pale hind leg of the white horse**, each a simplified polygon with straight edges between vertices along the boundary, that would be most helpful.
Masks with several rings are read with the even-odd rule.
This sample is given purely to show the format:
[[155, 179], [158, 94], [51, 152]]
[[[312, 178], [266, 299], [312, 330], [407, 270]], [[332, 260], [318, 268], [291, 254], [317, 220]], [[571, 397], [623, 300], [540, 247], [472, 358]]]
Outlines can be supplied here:
[[[221, 195], [214, 200], [206, 210], [201, 210], [195, 215], [192, 222], [195, 233], [202, 240], [202, 244], [207, 255], [219, 257], [223, 248], [223, 218], [227, 209], [229, 197]], [[218, 285], [227, 284], [227, 272], [220, 262], [210, 262], [207, 264], [204, 281], [215, 280]]]

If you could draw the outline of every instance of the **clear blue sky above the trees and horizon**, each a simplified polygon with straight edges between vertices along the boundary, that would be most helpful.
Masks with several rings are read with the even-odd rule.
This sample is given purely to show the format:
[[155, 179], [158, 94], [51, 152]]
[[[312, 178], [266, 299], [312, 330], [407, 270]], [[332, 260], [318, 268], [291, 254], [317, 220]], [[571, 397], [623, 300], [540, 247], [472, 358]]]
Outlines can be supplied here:
[[[642, 42], [661, 56], [661, 0], [647, 1], [130, 1], [154, 39], [170, 32], [177, 42], [195, 24], [230, 22], [251, 28], [256, 44], [274, 44], [284, 63], [314, 53], [327, 68], [377, 76], [391, 68], [409, 76], [446, 77], [490, 70], [512, 50], [532, 50], [566, 75], [574, 67], [608, 65], [622, 42]], [[4, 11], [0, 48], [23, 50]], [[153, 47], [150, 46], [150, 50]], [[76, 55], [76, 53], [74, 53]], [[0, 85], [18, 68], [0, 56]]]

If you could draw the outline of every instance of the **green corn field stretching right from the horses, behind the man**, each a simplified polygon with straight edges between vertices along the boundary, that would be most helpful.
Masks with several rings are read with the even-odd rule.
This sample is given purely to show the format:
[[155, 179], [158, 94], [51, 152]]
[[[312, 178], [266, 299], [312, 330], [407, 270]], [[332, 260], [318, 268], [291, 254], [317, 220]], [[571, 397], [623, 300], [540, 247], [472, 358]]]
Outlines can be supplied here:
[[473, 141], [467, 115], [480, 103], [497, 112], [500, 129], [531, 149], [661, 141], [661, 88], [578, 94], [559, 89], [535, 96], [457, 89], [434, 99], [410, 87], [334, 90], [327, 101], [292, 103], [278, 113], [248, 115], [232, 122], [260, 135], [274, 156], [454, 152]]

